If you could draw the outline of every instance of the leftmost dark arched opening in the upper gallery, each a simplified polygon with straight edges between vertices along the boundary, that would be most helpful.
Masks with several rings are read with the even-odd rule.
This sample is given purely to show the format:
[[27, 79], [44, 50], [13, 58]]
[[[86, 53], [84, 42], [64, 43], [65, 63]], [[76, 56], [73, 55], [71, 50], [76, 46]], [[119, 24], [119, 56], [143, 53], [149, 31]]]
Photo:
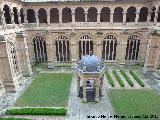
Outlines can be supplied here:
[[11, 16], [10, 16], [10, 7], [8, 5], [4, 5], [3, 11], [6, 24], [11, 24]]

